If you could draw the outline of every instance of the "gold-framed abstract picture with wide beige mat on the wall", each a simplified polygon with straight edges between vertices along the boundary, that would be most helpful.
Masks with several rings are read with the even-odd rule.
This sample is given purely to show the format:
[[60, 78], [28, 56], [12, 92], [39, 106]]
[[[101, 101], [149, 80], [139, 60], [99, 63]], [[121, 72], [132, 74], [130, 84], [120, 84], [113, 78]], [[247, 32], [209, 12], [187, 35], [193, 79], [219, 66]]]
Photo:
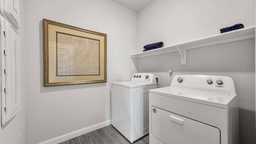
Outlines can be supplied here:
[[44, 86], [106, 82], [107, 36], [43, 19]]

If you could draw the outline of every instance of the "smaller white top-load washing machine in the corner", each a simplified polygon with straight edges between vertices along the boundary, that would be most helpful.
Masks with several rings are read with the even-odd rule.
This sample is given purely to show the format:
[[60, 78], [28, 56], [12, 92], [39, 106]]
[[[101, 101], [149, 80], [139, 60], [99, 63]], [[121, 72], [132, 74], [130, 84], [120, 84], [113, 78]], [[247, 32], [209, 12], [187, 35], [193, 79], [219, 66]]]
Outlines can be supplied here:
[[111, 124], [131, 143], [148, 134], [148, 92], [156, 88], [154, 74], [133, 74], [130, 81], [112, 82]]

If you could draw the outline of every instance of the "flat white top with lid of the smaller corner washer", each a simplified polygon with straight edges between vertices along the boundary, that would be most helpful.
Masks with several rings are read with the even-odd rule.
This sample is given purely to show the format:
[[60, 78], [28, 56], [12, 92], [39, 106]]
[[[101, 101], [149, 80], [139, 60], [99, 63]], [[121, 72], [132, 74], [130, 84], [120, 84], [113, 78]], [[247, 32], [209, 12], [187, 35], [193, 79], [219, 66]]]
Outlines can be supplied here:
[[142, 86], [156, 85], [156, 83], [132, 82], [132, 81], [112, 82], [111, 84], [116, 86], [123, 86], [126, 88], [137, 88]]

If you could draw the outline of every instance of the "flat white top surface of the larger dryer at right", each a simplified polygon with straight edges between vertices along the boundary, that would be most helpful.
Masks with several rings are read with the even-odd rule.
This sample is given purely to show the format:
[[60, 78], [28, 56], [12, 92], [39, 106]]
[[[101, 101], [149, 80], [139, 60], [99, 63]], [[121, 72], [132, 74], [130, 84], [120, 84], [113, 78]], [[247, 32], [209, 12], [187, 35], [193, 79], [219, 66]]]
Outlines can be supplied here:
[[224, 109], [228, 109], [234, 100], [236, 100], [237, 95], [206, 90], [195, 90], [190, 88], [180, 88], [174, 86], [152, 89], [149, 90], [149, 93]]

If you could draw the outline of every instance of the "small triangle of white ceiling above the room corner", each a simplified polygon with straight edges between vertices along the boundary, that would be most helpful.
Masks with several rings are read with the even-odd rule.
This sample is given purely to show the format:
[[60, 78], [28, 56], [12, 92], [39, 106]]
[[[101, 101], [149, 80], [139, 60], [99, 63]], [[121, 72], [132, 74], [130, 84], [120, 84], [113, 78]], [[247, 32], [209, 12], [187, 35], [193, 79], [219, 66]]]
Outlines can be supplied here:
[[114, 0], [114, 1], [132, 10], [139, 11], [142, 8], [144, 8], [144, 6], [152, 2], [153, 0]]

